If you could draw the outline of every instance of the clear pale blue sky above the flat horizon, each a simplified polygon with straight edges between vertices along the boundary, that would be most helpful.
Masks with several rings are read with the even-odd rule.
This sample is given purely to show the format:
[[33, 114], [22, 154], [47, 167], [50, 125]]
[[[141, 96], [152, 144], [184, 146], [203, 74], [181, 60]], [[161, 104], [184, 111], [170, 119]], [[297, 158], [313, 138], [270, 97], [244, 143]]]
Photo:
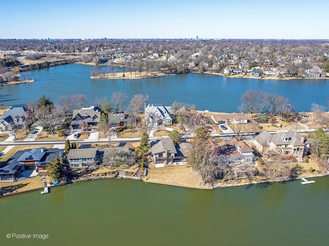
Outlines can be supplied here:
[[0, 38], [329, 39], [327, 0], [0, 0]]

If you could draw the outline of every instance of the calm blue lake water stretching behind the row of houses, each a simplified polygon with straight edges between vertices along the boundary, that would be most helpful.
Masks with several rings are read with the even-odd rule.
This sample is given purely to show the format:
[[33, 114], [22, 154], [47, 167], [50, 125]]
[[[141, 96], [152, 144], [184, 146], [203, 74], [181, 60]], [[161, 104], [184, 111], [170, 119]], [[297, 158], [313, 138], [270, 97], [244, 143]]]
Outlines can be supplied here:
[[287, 97], [296, 111], [309, 111], [312, 103], [327, 105], [329, 79], [248, 79], [212, 74], [181, 74], [148, 79], [90, 79], [93, 66], [70, 64], [22, 72], [34, 78], [30, 84], [0, 88], [4, 106], [24, 106], [45, 94], [56, 103], [62, 95], [84, 94], [90, 106], [95, 97], [111, 99], [112, 92], [128, 95], [148, 94], [151, 104], [171, 105], [174, 100], [195, 104], [198, 110], [237, 112], [240, 97], [249, 89], [259, 89]]

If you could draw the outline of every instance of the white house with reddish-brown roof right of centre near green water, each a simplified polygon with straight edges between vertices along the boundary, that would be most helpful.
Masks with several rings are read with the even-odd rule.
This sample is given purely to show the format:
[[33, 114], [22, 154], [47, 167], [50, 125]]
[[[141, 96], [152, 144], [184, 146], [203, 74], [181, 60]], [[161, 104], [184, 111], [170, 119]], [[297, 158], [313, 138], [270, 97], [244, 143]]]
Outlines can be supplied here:
[[225, 163], [253, 162], [255, 155], [244, 141], [233, 138], [229, 141], [221, 141], [218, 146], [218, 154]]

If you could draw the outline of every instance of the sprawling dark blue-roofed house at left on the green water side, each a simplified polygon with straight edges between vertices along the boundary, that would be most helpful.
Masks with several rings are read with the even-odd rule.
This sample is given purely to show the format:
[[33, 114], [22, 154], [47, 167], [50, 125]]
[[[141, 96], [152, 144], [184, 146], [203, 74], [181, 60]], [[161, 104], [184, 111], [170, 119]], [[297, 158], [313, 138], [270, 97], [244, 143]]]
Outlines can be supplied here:
[[14, 181], [23, 171], [45, 171], [46, 165], [56, 156], [60, 157], [64, 149], [34, 148], [17, 151], [0, 167], [0, 180]]

